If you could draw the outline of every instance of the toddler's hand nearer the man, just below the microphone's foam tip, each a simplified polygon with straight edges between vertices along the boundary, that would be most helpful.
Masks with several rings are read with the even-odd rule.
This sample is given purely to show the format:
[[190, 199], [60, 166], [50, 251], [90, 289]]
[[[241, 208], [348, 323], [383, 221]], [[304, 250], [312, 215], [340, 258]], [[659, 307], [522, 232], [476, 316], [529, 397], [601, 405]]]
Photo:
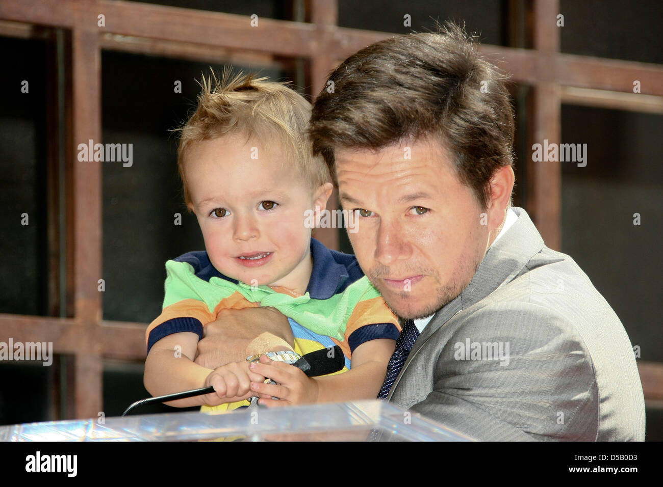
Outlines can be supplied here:
[[[318, 401], [318, 382], [307, 377], [294, 365], [271, 360], [267, 355], [260, 356], [260, 362], [249, 364], [249, 370], [271, 378], [277, 384], [263, 384], [252, 381], [251, 390], [261, 399], [261, 406], [292, 406], [310, 404]], [[278, 400], [272, 399], [278, 398]]]

